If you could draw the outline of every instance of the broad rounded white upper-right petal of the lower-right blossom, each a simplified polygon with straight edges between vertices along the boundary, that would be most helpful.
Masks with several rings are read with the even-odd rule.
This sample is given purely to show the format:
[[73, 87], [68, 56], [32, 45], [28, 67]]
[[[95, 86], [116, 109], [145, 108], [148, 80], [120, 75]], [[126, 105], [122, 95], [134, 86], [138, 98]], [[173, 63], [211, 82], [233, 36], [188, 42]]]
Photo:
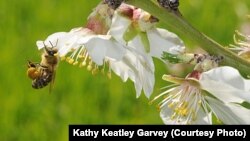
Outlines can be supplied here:
[[201, 74], [202, 89], [224, 102], [250, 102], [250, 80], [232, 67], [219, 67]]

